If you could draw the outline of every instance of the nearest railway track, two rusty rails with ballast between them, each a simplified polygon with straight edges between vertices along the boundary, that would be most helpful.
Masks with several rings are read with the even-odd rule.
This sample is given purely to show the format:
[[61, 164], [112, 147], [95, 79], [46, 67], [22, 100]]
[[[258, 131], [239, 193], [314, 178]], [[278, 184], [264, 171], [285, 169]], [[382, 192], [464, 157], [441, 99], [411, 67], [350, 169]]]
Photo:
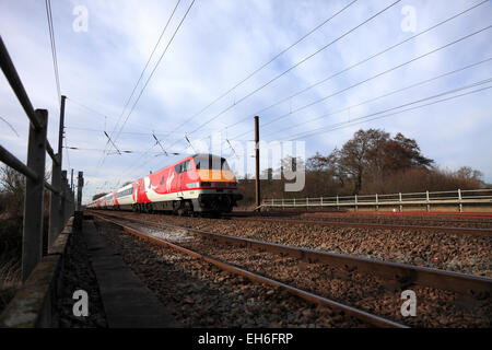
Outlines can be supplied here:
[[[125, 231], [141, 238], [148, 240], [152, 243], [171, 246], [185, 254], [199, 257], [224, 270], [242, 275], [254, 281], [259, 281], [285, 289], [289, 292], [296, 294], [309, 302], [328, 305], [331, 308], [342, 311], [348, 315], [351, 315], [375, 326], [405, 327], [405, 325], [402, 325], [399, 319], [391, 319], [395, 317], [388, 317], [391, 312], [389, 312], [388, 314], [387, 311], [380, 312], [380, 310], [376, 307], [379, 312], [378, 315], [374, 315], [370, 312], [372, 308], [371, 305], [368, 305], [370, 311], [367, 311], [367, 307], [363, 307], [363, 305], [367, 306], [367, 304], [371, 304], [368, 300], [375, 301], [374, 295], [362, 298], [355, 303], [352, 301], [351, 303], [349, 303], [350, 305], [347, 305], [343, 298], [341, 298], [341, 300], [333, 300], [328, 298], [329, 295], [326, 295], [327, 293], [323, 292], [323, 288], [320, 290], [319, 288], [317, 289], [316, 285], [309, 285], [309, 283], [302, 281], [300, 282], [296, 280], [291, 281], [285, 277], [283, 278], [283, 281], [282, 279], [274, 279], [276, 272], [272, 271], [272, 266], [280, 264], [282, 267], [285, 267], [285, 270], [293, 270], [292, 273], [295, 275], [295, 270], [298, 270], [300, 264], [305, 264], [307, 266], [306, 269], [309, 271], [309, 273], [313, 275], [313, 278], [317, 277], [316, 280], [319, 279], [321, 281], [320, 283], [315, 284], [320, 285], [324, 284], [323, 281], [326, 280], [327, 276], [331, 276], [332, 279], [335, 277], [335, 280], [339, 280], [340, 277], [342, 277], [342, 280], [347, 280], [347, 278], [351, 279], [354, 276], [359, 276], [359, 278], [365, 278], [371, 281], [370, 284], [373, 285], [373, 294], [374, 291], [377, 291], [379, 294], [382, 293], [382, 287], [374, 285], [376, 285], [377, 283], [382, 283], [383, 285], [386, 285], [383, 288], [386, 290], [388, 281], [390, 281], [389, 287], [390, 289], [393, 288], [394, 291], [389, 294], [387, 292], [383, 292], [383, 295], [380, 298], [383, 298], [384, 301], [387, 301], [388, 298], [395, 299], [395, 290], [402, 290], [409, 285], [418, 287], [423, 292], [429, 292], [425, 291], [429, 289], [440, 289], [437, 293], [443, 293], [443, 290], [453, 291], [450, 293], [456, 294], [454, 296], [457, 296], [457, 294], [467, 295], [468, 299], [475, 301], [480, 299], [489, 300], [492, 292], [492, 279], [489, 278], [467, 276], [462, 273], [441, 271], [402, 264], [377, 261], [292, 246], [283, 246], [249, 238], [226, 236], [218, 233], [167, 223], [154, 223], [134, 218], [125, 218], [120, 214], [103, 214], [98, 212], [95, 213], [95, 215], [102, 218], [103, 220], [116, 223], [120, 225]], [[136, 224], [140, 226], [136, 228]], [[169, 229], [173, 232], [186, 232], [199, 238], [189, 238], [180, 242], [178, 240], [176, 242], [176, 237], [171, 237], [171, 241], [168, 241], [164, 240], [162, 236], [154, 236], [149, 232], [145, 232], [149, 228], [153, 228], [152, 230], [166, 230], [167, 232], [169, 231]], [[226, 246], [229, 246], [230, 248], [224, 249], [224, 247]], [[207, 254], [200, 253], [203, 252], [203, 249], [207, 252]], [[250, 260], [254, 260], [254, 257], [256, 256], [255, 254], [251, 254], [251, 249], [259, 252], [255, 254], [260, 254], [261, 256], [259, 257], [259, 259], [269, 261], [269, 264], [261, 265], [260, 267], [250, 266], [253, 264]], [[232, 250], [234, 250], [234, 253], [232, 253]], [[267, 257], [262, 255], [267, 255]], [[239, 258], [241, 256], [243, 257]], [[234, 262], [224, 262], [231, 260]], [[365, 281], [352, 281], [351, 283], [359, 283], [359, 288], [362, 289], [364, 289], [365, 285]], [[460, 298], [461, 296], [458, 296], [458, 299]], [[470, 304], [469, 301], [467, 303], [468, 305]], [[480, 301], [478, 303], [481, 304]], [[488, 320], [484, 322], [487, 323]], [[425, 326], [425, 324], [426, 322], [423, 322], [423, 324], [417, 323], [415, 325]], [[456, 320], [454, 320], [454, 324], [456, 325]]]

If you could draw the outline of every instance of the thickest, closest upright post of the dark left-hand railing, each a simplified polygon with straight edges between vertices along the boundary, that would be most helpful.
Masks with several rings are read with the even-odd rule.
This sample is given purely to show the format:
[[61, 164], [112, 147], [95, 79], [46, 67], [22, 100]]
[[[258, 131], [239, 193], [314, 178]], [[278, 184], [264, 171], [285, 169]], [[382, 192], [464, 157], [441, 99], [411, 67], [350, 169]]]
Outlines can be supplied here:
[[36, 130], [30, 122], [27, 166], [36, 173], [37, 179], [32, 180], [28, 177], [25, 179], [22, 281], [27, 279], [43, 255], [43, 211], [48, 110], [36, 109], [35, 114], [40, 122], [40, 128]]

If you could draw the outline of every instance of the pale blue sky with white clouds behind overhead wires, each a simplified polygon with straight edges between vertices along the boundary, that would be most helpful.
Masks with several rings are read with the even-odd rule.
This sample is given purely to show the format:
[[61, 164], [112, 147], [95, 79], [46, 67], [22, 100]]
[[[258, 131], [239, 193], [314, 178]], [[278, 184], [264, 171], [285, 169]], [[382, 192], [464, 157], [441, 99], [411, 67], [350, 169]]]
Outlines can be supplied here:
[[[63, 149], [63, 168], [84, 172], [84, 202], [210, 142], [222, 144], [238, 175], [253, 174], [255, 115], [260, 139], [285, 150], [285, 141], [303, 142], [294, 149], [305, 158], [379, 128], [415, 139], [444, 170], [470, 166], [492, 183], [492, 1], [191, 3], [51, 0], [68, 97], [63, 144], [78, 148]], [[34, 107], [48, 109], [56, 149], [60, 107], [45, 1], [0, 0], [0, 35]], [[4, 77], [0, 117], [1, 144], [25, 161], [28, 120]], [[118, 154], [104, 131], [133, 153]], [[164, 154], [153, 135], [179, 154]]]

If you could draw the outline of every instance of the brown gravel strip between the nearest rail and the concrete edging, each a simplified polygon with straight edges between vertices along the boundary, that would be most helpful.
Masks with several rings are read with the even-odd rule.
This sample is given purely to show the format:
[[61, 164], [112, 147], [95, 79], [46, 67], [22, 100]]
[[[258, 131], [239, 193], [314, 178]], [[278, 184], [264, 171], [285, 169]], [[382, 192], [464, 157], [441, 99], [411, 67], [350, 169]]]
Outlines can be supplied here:
[[[359, 320], [96, 221], [101, 234], [184, 327], [364, 327]], [[165, 234], [165, 233], [164, 233]]]

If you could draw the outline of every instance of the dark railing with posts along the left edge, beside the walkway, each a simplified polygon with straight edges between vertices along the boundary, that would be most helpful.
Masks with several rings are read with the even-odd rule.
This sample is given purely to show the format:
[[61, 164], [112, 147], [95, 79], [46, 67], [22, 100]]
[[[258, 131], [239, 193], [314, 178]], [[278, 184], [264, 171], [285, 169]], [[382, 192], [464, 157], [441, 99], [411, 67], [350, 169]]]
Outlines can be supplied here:
[[[27, 164], [0, 145], [0, 161], [25, 176], [24, 222], [22, 237], [22, 280], [25, 281], [62, 231], [74, 211], [74, 194], [67, 171], [61, 171], [60, 152], [55, 154], [47, 140], [48, 112], [34, 109], [10, 55], [0, 36], [0, 66], [30, 119]], [[51, 184], [45, 180], [46, 153], [52, 160]], [[45, 189], [49, 190], [49, 230], [43, 230]], [[80, 203], [80, 198], [79, 201]]]

